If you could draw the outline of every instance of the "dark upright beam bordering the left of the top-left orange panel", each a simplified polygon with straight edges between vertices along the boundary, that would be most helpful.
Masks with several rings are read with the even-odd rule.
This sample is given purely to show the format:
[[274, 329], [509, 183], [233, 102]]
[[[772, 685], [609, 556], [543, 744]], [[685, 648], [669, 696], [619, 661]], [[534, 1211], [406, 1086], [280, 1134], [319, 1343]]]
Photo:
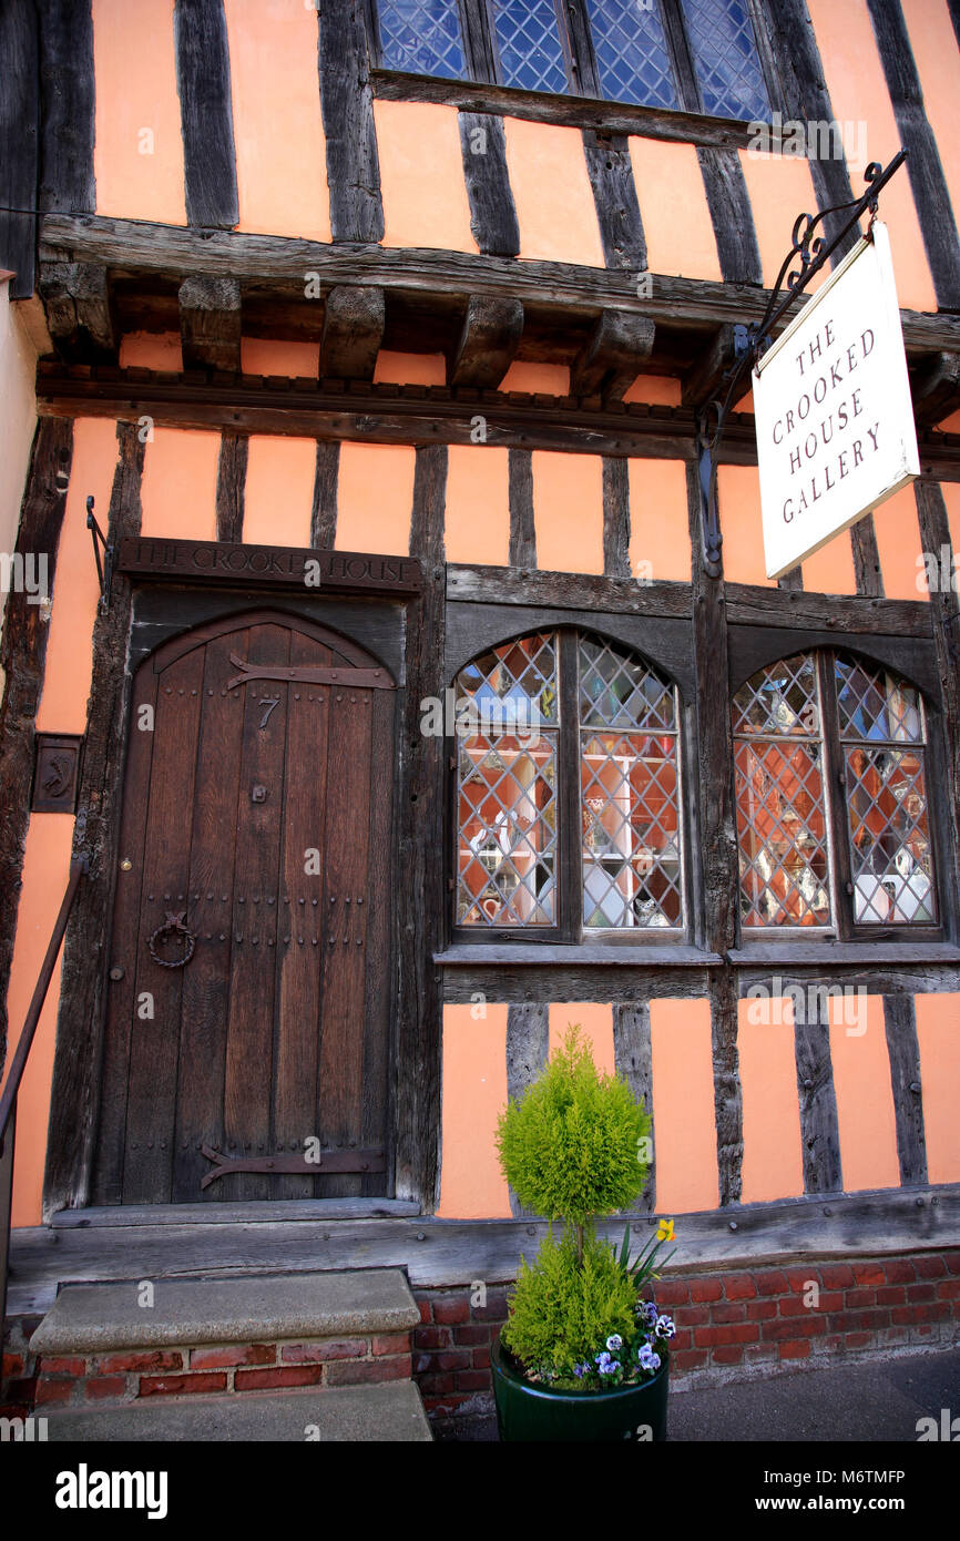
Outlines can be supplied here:
[[37, 0], [40, 17], [40, 208], [83, 213], [94, 188], [91, 0]]

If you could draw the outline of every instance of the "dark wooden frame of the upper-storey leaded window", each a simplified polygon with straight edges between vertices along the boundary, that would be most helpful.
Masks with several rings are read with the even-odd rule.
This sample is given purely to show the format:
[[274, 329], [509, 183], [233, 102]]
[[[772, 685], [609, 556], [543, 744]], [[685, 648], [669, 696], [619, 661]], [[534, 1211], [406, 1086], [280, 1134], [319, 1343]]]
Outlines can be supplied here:
[[[777, 106], [783, 106], [783, 88], [769, 42], [769, 17], [764, 11], [767, 0], [743, 0], [743, 5], [754, 32], [757, 65], [767, 91], [770, 111], [774, 111]], [[658, 0], [658, 15], [663, 26], [664, 45], [670, 60], [673, 86], [676, 91], [676, 108], [656, 109], [652, 108], [650, 103], [618, 102], [612, 97], [603, 96], [593, 35], [590, 29], [590, 17], [587, 12], [587, 0], [553, 0], [556, 29], [567, 69], [566, 92], [529, 91], [524, 86], [507, 85], [502, 79], [499, 65], [492, 0], [456, 0], [456, 8], [461, 23], [461, 42], [467, 77], [462, 82], [451, 82], [445, 76], [436, 76], [431, 79], [447, 82], [450, 85], [493, 85], [538, 99], [555, 97], [558, 100], [564, 100], [566, 97], [582, 97], [592, 103], [603, 103], [612, 112], [616, 112], [619, 108], [627, 108], [629, 111], [669, 111], [675, 114], [709, 117], [727, 123], [747, 123], [747, 119], [704, 112], [700, 83], [697, 80], [693, 49], [687, 35], [681, 0]], [[390, 71], [382, 62], [378, 0], [364, 0], [364, 12], [367, 18], [371, 68], [387, 74], [402, 76], [404, 71]]]

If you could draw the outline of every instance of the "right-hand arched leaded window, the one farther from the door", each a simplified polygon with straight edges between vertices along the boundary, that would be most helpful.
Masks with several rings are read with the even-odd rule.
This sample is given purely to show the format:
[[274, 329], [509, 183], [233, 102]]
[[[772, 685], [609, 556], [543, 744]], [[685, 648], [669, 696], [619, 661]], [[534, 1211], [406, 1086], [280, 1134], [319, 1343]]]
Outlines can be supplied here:
[[733, 698], [740, 915], [757, 928], [935, 926], [920, 692], [829, 650]]

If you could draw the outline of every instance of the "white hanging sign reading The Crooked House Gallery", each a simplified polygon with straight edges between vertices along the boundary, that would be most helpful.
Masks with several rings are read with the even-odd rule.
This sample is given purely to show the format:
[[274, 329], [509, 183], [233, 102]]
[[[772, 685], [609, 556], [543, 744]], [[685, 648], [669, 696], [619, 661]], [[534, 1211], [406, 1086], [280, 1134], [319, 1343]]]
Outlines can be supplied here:
[[886, 225], [874, 222], [754, 370], [769, 578], [920, 475]]

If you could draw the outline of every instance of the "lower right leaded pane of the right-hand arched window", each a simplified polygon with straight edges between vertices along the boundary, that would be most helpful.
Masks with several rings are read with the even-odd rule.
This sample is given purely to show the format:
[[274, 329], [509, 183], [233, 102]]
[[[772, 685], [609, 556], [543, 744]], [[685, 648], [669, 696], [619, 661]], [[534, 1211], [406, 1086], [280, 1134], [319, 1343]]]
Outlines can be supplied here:
[[937, 920], [920, 749], [844, 749], [854, 917], [860, 925]]

